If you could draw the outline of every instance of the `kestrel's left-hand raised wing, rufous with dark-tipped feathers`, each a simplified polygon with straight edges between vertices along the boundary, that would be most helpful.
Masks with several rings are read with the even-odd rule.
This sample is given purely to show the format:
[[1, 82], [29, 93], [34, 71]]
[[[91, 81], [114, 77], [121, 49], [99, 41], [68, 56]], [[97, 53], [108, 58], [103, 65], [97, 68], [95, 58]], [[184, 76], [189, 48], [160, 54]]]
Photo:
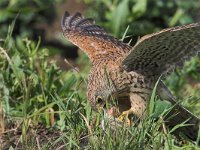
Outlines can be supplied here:
[[130, 50], [130, 46], [110, 36], [102, 27], [96, 25], [93, 19], [84, 18], [80, 13], [69, 16], [65, 12], [61, 26], [64, 36], [87, 53], [90, 59], [101, 54], [112, 55], [112, 52], [117, 50]]

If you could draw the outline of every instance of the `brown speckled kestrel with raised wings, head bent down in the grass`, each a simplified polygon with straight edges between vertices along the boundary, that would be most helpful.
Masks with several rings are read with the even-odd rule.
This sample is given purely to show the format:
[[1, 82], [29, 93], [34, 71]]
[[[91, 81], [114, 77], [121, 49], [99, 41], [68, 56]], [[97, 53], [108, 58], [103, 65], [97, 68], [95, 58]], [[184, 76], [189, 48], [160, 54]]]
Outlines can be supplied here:
[[[115, 106], [106, 112], [119, 120], [129, 115], [144, 118], [160, 76], [200, 51], [200, 23], [143, 36], [134, 47], [110, 36], [93, 19], [84, 18], [80, 13], [70, 16], [65, 12], [61, 26], [64, 37], [82, 49], [92, 62], [87, 87], [87, 98], [92, 108], [99, 110], [105, 107], [106, 101], [114, 105], [114, 99]], [[176, 104], [162, 81], [157, 86], [157, 94], [161, 99]], [[192, 126], [179, 128], [177, 132], [196, 140], [200, 119], [178, 104], [170, 113], [176, 115], [166, 122], [168, 126], [173, 127], [188, 119], [187, 123]]]

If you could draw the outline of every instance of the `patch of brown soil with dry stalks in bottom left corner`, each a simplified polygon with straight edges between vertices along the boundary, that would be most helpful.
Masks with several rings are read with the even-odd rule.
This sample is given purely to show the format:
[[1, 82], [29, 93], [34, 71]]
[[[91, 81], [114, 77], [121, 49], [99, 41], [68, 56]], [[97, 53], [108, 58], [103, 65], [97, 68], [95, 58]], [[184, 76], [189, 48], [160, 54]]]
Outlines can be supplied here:
[[[29, 127], [25, 134], [22, 128], [6, 130], [0, 136], [0, 149], [66, 149], [67, 141], [61, 140], [64, 133], [56, 128]], [[24, 135], [24, 136], [22, 136]]]

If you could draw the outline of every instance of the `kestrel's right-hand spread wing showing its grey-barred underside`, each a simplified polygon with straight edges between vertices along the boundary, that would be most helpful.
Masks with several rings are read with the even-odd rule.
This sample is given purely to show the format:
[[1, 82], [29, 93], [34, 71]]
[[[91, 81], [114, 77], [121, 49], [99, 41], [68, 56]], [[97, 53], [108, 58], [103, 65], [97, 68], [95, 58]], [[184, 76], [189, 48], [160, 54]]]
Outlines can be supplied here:
[[161, 30], [142, 37], [123, 68], [146, 76], [160, 76], [200, 51], [200, 22]]

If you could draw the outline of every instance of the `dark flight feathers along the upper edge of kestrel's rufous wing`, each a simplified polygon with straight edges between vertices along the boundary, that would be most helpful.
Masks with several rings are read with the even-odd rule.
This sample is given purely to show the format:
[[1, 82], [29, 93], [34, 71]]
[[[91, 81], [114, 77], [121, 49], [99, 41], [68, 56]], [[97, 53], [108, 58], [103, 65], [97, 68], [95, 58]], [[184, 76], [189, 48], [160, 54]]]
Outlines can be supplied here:
[[[90, 38], [90, 40], [96, 40], [98, 42], [107, 43], [109, 46], [122, 49], [123, 52], [130, 51], [131, 47], [116, 38], [110, 36], [104, 28], [95, 24], [95, 21], [91, 18], [84, 18], [79, 12], [70, 16], [69, 13], [65, 12], [61, 26], [63, 30], [63, 34], [69, 40], [73, 39], [73, 42], [79, 44], [78, 40], [85, 40]], [[80, 39], [79, 39], [80, 38]]]

